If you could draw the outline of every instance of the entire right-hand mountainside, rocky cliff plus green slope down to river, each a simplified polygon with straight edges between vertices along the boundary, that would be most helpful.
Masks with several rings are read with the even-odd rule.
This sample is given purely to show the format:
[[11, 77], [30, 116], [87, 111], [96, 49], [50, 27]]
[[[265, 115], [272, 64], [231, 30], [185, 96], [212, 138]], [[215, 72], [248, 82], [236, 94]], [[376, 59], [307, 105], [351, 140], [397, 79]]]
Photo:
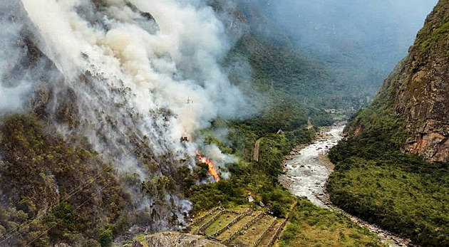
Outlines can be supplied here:
[[[448, 4], [438, 3], [410, 55], [373, 104], [349, 121], [349, 139], [329, 153], [336, 164], [329, 177], [331, 201], [419, 246], [449, 246], [449, 164], [425, 161], [445, 152], [439, 147], [447, 139], [442, 131], [447, 112], [440, 104], [448, 91], [438, 72], [447, 68], [438, 63], [448, 58]], [[429, 134], [438, 138], [425, 139]]]

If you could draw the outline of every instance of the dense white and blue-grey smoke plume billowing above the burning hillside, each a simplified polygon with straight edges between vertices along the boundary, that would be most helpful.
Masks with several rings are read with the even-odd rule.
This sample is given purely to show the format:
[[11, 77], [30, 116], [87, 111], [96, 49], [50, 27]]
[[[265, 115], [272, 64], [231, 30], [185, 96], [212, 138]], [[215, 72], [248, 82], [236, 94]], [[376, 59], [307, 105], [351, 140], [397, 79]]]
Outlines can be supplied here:
[[[159, 132], [138, 126], [150, 137], [153, 151], [162, 154], [180, 152], [180, 136], [208, 127], [217, 116], [244, 115], [244, 97], [220, 67], [230, 48], [226, 30], [202, 1], [104, 1], [100, 12], [90, 1], [23, 3], [43, 37], [44, 53], [62, 71], [78, 101], [91, 107], [78, 107], [81, 115], [93, 119], [96, 111], [104, 111], [118, 122], [128, 117], [102, 109], [108, 103], [125, 104], [144, 119], [148, 112], [167, 109], [165, 117], [148, 116]], [[93, 92], [79, 81], [86, 71], [101, 78]], [[130, 99], [112, 95], [110, 88], [125, 90]], [[97, 132], [85, 135], [106, 152], [96, 143]], [[165, 147], [160, 147], [162, 142]]]

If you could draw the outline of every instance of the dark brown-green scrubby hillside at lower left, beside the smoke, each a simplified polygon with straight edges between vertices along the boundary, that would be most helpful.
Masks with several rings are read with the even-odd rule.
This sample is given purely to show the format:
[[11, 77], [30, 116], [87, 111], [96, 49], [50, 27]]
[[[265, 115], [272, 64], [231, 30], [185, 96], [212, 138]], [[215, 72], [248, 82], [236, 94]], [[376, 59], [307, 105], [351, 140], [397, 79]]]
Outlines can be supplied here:
[[120, 189], [113, 167], [79, 143], [50, 134], [34, 115], [3, 119], [1, 246], [104, 246], [129, 227], [130, 194]]

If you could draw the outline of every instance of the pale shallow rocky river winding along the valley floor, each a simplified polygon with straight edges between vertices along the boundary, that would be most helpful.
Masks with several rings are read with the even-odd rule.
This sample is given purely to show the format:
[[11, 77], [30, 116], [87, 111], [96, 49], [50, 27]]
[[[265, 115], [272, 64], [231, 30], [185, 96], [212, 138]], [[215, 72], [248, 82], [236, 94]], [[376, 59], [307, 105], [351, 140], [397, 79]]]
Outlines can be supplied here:
[[334, 164], [326, 156], [329, 149], [343, 139], [343, 130], [342, 124], [326, 127], [319, 132], [313, 143], [293, 149], [285, 157], [284, 174], [279, 177], [279, 182], [289, 189], [291, 194], [305, 196], [318, 206], [346, 214], [352, 221], [376, 233], [388, 246], [413, 246], [409, 239], [400, 238], [358, 219], [331, 203], [329, 195], [326, 194], [326, 182], [329, 174], [334, 171]]

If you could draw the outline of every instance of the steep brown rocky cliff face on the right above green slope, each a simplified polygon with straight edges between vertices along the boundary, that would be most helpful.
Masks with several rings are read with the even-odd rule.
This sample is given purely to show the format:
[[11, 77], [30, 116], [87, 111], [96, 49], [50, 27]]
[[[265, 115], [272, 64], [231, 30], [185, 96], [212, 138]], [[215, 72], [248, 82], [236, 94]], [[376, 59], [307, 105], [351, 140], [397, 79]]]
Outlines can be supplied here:
[[[406, 152], [449, 161], [449, 1], [425, 20], [408, 56], [385, 80], [372, 107], [406, 120]], [[354, 134], [363, 126], [353, 126]]]

